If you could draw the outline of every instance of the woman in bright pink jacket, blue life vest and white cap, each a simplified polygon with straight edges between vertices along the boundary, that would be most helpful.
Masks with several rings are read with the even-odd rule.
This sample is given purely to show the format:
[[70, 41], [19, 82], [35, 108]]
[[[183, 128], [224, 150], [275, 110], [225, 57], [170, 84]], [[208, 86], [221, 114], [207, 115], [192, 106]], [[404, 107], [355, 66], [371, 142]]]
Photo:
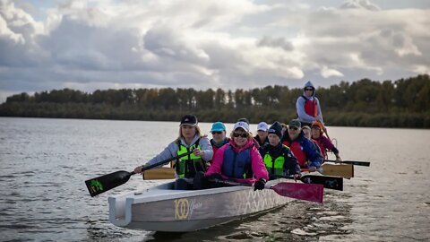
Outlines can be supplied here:
[[[262, 156], [255, 148], [249, 125], [237, 122], [230, 134], [230, 142], [219, 148], [213, 157], [205, 178], [233, 179], [237, 182], [254, 184], [254, 189], [262, 190], [269, 179], [262, 162]], [[217, 186], [211, 184], [210, 187]]]

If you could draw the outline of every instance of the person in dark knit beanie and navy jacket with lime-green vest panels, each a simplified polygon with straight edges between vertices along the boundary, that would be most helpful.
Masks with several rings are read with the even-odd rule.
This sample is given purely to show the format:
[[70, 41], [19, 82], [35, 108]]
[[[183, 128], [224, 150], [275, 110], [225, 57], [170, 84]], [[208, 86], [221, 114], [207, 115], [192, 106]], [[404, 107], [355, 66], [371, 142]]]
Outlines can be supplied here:
[[295, 179], [300, 177], [297, 158], [286, 145], [280, 143], [282, 138], [280, 122], [273, 123], [269, 127], [268, 133], [269, 143], [260, 147], [259, 151], [269, 172], [269, 179], [273, 180], [284, 176], [294, 176]]

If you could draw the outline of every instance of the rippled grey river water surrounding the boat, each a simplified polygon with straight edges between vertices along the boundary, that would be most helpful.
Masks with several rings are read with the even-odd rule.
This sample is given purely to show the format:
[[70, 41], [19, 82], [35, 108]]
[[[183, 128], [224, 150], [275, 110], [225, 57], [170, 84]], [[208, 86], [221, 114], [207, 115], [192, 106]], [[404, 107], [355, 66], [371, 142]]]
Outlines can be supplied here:
[[[211, 124], [201, 124], [208, 133]], [[232, 125], [228, 124], [228, 130]], [[252, 125], [255, 132], [256, 125]], [[355, 168], [323, 204], [295, 201], [211, 229], [172, 234], [116, 228], [107, 196], [151, 186], [132, 177], [91, 198], [84, 180], [132, 170], [178, 134], [175, 122], [0, 117], [0, 240], [428, 241], [430, 130], [329, 127]]]

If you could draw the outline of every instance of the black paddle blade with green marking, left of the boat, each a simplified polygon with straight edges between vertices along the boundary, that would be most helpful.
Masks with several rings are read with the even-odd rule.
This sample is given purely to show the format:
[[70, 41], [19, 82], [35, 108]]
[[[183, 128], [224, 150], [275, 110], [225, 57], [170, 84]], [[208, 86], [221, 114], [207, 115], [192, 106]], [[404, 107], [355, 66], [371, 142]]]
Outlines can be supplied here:
[[134, 173], [125, 170], [112, 172], [101, 177], [92, 178], [85, 181], [91, 196], [102, 194], [116, 186], [125, 184]]

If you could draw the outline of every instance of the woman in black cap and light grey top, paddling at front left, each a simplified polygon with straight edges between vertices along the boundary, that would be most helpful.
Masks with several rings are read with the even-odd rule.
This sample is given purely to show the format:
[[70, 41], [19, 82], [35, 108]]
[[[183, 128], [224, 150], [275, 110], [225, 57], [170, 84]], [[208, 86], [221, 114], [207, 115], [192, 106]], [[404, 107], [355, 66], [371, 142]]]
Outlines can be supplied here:
[[[161, 151], [157, 156], [149, 160], [146, 165], [151, 165], [161, 160], [168, 160], [188, 151], [193, 151], [193, 153], [176, 160], [172, 166], [176, 171], [175, 189], [192, 189], [193, 177], [196, 172], [205, 172], [207, 169], [206, 162], [211, 160], [213, 155], [209, 139], [201, 135], [197, 117], [193, 115], [182, 117], [177, 139], [169, 143], [164, 151]], [[135, 168], [134, 172], [142, 173], [142, 166]]]

